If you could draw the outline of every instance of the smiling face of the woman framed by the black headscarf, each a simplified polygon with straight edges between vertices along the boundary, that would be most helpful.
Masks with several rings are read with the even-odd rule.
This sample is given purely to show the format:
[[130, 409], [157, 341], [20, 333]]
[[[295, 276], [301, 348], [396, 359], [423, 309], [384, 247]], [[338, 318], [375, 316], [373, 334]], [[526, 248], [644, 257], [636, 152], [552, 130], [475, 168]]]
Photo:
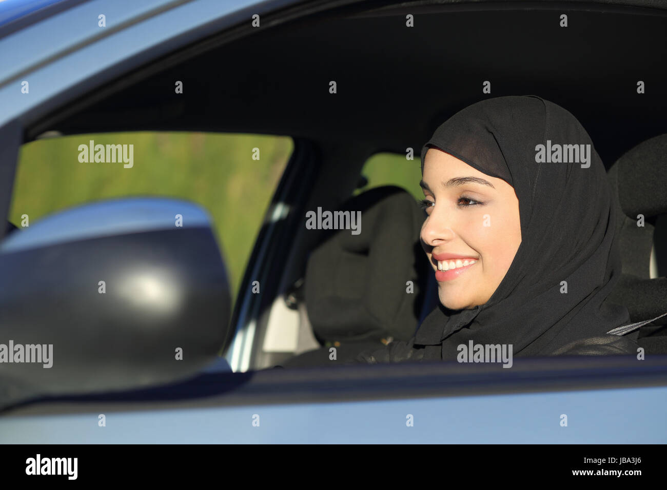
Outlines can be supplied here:
[[435, 148], [426, 152], [422, 177], [428, 215], [422, 246], [436, 272], [440, 302], [450, 309], [484, 305], [521, 243], [514, 187]]

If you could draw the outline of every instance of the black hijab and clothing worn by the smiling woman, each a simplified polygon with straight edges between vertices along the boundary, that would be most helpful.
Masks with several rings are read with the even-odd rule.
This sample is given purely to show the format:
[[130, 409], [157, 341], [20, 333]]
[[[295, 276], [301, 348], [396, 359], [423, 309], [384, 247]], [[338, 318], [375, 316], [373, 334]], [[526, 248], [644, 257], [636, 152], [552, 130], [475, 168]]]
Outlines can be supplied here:
[[[590, 167], [538, 163], [537, 145], [590, 145]], [[522, 243], [487, 303], [458, 311], [440, 306], [413, 339], [364, 352], [358, 362], [454, 360], [458, 345], [471, 340], [511, 344], [520, 357], [636, 353], [636, 332], [606, 335], [630, 323], [625, 307], [606, 301], [621, 273], [616, 211], [602, 160], [572, 114], [533, 95], [488, 99], [436, 129], [422, 149], [422, 169], [429, 147], [514, 187]]]

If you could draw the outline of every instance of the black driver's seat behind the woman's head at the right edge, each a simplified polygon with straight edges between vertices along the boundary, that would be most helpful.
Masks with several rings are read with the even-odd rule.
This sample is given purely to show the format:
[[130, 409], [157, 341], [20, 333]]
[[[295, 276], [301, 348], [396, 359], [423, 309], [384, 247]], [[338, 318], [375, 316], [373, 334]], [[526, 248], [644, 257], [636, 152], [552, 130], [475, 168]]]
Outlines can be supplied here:
[[[630, 149], [608, 177], [623, 264], [610, 300], [627, 307], [633, 323], [646, 321], [667, 312], [667, 134]], [[641, 327], [638, 343], [646, 353], [667, 353], [667, 315]]]

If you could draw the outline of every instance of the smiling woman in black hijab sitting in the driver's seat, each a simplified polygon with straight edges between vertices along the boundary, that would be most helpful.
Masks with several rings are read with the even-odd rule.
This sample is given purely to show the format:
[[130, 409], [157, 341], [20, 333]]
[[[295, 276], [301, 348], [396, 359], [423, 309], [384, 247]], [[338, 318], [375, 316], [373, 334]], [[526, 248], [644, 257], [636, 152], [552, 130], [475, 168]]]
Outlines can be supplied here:
[[424, 145], [422, 176], [440, 305], [413, 339], [358, 362], [454, 360], [478, 344], [521, 357], [636, 354], [637, 332], [606, 334], [629, 323], [606, 302], [621, 273], [616, 210], [572, 114], [532, 95], [470, 105]]

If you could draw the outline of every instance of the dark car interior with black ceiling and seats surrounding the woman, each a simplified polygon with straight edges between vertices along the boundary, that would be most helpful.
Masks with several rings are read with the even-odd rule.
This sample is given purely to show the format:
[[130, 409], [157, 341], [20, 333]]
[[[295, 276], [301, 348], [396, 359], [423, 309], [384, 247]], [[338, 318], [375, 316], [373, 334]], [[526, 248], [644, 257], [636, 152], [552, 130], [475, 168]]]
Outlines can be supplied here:
[[[370, 2], [239, 26], [117, 77], [27, 128], [25, 141], [47, 131], [291, 136], [241, 284], [259, 281], [262, 293], [239, 294], [221, 353], [235, 371], [317, 365], [331, 346], [344, 359], [410, 339], [438, 301], [419, 243], [424, 211], [406, 184], [367, 181], [364, 163], [390, 152], [419, 165], [422, 145], [456, 111], [540, 95], [581, 121], [608, 169], [623, 267], [612, 301], [632, 322], [658, 317], [667, 312], [667, 17], [512, 5]], [[318, 207], [360, 211], [368, 233], [306, 229]], [[639, 343], [667, 353], [667, 316], [641, 327]]]

